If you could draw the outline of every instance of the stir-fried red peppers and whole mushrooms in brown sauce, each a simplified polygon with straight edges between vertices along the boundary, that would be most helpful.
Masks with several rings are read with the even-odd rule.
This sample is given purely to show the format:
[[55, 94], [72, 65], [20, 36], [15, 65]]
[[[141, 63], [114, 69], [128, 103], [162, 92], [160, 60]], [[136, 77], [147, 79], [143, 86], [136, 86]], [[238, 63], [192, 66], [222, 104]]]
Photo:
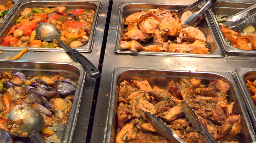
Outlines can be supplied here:
[[36, 37], [37, 25], [45, 22], [61, 31], [60, 40], [78, 48], [89, 41], [94, 15], [94, 10], [72, 10], [60, 6], [25, 8], [7, 37], [3, 38], [2, 46], [59, 48], [54, 41], [42, 41]]

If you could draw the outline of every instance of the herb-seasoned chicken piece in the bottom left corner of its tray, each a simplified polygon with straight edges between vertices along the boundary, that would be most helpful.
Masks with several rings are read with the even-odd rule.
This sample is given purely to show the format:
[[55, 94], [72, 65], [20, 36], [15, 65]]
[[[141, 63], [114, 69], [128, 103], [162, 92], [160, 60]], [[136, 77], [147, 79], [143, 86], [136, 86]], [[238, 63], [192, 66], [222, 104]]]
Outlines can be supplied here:
[[133, 123], [126, 124], [117, 134], [115, 143], [125, 143], [136, 138], [137, 128]]

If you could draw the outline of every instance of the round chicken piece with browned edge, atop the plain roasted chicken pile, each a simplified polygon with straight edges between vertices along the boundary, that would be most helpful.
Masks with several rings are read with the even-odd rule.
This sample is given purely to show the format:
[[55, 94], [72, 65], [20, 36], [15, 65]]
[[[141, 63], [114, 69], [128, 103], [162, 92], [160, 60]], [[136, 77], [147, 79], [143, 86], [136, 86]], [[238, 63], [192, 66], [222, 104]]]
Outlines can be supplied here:
[[139, 18], [137, 27], [144, 33], [152, 34], [160, 23], [160, 18], [152, 13], [146, 13]]

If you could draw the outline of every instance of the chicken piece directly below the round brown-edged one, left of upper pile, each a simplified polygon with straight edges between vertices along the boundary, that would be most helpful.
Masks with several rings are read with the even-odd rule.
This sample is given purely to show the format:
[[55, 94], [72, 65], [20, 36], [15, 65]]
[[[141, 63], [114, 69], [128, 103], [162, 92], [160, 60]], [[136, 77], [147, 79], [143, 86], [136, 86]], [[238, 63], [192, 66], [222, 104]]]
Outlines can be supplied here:
[[130, 27], [128, 31], [123, 35], [124, 40], [137, 40], [137, 41], [149, 40], [152, 37], [153, 37], [153, 34], [144, 33], [135, 27]]

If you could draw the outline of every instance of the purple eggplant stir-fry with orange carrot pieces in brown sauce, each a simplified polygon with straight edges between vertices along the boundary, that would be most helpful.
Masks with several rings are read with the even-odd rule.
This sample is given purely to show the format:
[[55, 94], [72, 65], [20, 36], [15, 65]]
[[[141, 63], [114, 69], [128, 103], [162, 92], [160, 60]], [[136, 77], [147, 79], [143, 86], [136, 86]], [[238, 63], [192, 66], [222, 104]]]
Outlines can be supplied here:
[[19, 126], [18, 123], [13, 125], [6, 122], [15, 105], [32, 107], [43, 115], [45, 123], [40, 134], [45, 140], [53, 135], [53, 130], [49, 128], [53, 123], [63, 124], [68, 121], [76, 90], [76, 85], [70, 79], [59, 74], [26, 77], [22, 72], [5, 71], [0, 73], [0, 81], [1, 133], [12, 133], [13, 127]]

